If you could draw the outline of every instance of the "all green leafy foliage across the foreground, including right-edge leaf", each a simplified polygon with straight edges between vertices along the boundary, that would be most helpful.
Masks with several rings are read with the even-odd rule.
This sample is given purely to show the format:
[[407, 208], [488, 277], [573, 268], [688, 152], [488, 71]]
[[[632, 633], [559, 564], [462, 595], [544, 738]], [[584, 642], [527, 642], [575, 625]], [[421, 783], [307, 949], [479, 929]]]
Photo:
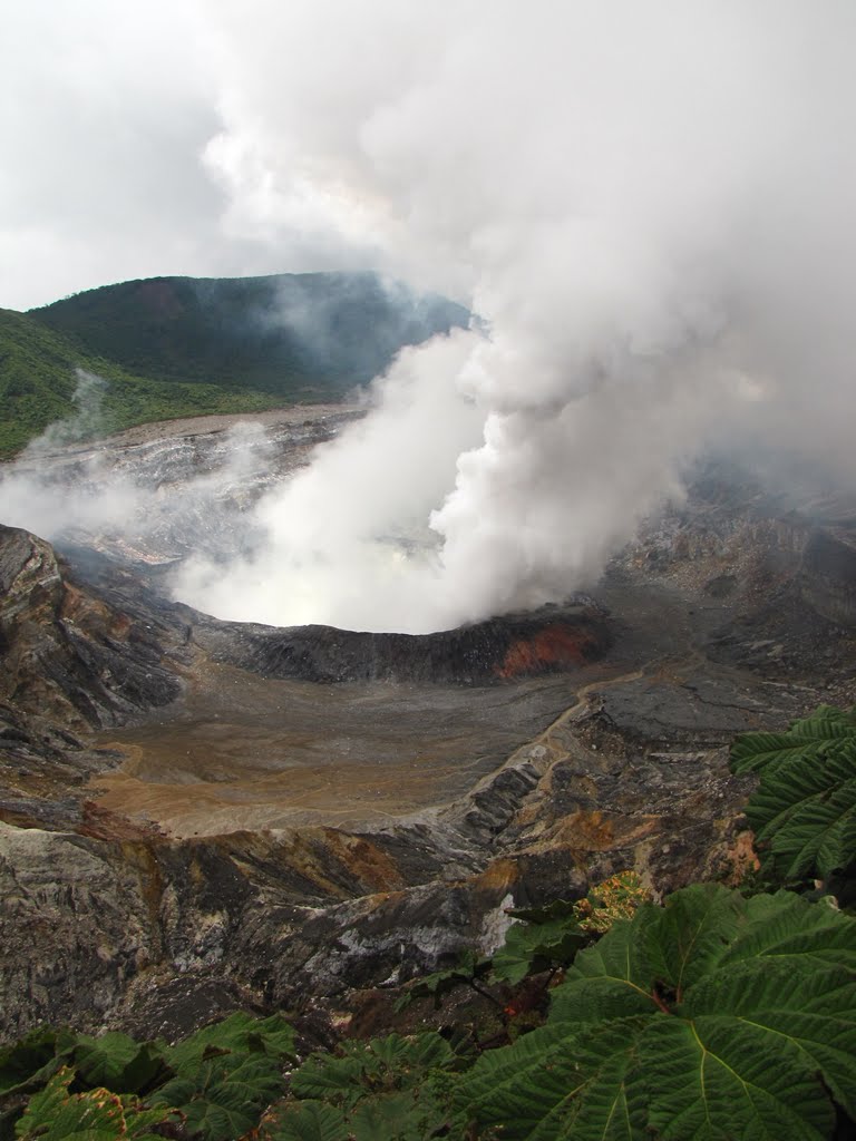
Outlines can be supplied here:
[[[748, 814], [773, 872], [846, 883], [854, 729], [853, 714], [823, 706], [735, 743], [735, 767], [760, 774]], [[794, 834], [808, 853], [797, 863], [797, 841], [782, 839]], [[470, 954], [405, 992], [508, 996], [564, 969], [546, 1019], [512, 1044], [390, 1034], [299, 1063], [276, 1015], [233, 1014], [172, 1046], [39, 1029], [0, 1051], [0, 1141], [854, 1135], [856, 919], [834, 898], [693, 884], [659, 906], [623, 873], [586, 900], [517, 916], [493, 961]]]

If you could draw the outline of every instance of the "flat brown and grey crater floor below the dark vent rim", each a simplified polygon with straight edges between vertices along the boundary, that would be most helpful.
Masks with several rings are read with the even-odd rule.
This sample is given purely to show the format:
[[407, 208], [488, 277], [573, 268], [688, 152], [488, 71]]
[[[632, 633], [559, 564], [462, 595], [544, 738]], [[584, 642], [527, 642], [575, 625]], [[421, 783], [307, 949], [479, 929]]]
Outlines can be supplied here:
[[389, 824], [463, 795], [574, 699], [574, 679], [316, 685], [207, 664], [171, 715], [110, 730], [99, 803], [176, 836]]

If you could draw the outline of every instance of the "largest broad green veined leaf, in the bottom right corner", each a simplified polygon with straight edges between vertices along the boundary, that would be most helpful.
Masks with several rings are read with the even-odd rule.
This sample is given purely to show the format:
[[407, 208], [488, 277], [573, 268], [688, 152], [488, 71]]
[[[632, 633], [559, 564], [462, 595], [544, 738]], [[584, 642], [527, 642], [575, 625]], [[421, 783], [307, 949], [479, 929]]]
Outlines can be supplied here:
[[581, 952], [547, 1025], [485, 1053], [455, 1104], [519, 1141], [821, 1141], [832, 1099], [856, 1117], [855, 1058], [856, 920], [697, 884]]

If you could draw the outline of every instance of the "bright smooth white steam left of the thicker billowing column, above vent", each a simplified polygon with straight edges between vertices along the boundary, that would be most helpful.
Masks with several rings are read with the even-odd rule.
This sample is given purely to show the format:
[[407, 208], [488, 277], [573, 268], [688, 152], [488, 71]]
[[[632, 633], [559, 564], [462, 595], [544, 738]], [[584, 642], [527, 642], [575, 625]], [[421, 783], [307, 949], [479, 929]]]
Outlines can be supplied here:
[[259, 502], [260, 549], [228, 567], [191, 559], [173, 592], [237, 621], [442, 624], [441, 568], [422, 532], [453, 488], [458, 455], [481, 436], [483, 414], [455, 385], [469, 341], [457, 331], [402, 351], [373, 385], [373, 411]]

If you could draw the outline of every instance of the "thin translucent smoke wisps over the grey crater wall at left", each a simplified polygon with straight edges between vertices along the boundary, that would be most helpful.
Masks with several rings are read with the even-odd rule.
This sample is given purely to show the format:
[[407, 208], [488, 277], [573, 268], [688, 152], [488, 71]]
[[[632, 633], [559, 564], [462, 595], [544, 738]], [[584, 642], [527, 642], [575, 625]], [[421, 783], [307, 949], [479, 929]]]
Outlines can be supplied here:
[[263, 427], [239, 422], [194, 470], [191, 440], [136, 446], [91, 442], [103, 432], [107, 381], [78, 369], [78, 411], [50, 424], [0, 469], [2, 523], [60, 545], [82, 543], [138, 563], [194, 552], [235, 557], [253, 542], [242, 511], [268, 482], [273, 460]]

